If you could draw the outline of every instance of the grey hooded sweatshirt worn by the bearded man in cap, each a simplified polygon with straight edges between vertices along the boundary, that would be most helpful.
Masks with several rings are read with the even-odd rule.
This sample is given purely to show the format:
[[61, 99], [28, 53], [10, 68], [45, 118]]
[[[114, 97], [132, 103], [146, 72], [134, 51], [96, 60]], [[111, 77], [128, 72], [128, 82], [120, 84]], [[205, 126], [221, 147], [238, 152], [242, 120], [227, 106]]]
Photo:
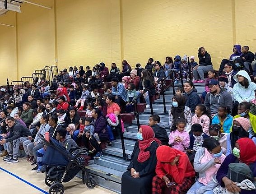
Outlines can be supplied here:
[[207, 93], [205, 96], [205, 106], [210, 109], [211, 114], [218, 112], [219, 106], [228, 106], [231, 110], [233, 107], [232, 96], [226, 89], [220, 88], [220, 92], [217, 95]]

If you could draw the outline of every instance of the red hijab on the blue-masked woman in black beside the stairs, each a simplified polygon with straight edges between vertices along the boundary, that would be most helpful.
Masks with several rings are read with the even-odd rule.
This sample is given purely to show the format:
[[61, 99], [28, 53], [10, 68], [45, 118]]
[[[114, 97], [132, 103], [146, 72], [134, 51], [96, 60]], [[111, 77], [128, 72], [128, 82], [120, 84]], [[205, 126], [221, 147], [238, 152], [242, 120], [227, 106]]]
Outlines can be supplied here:
[[150, 126], [141, 125], [140, 127], [142, 129], [143, 140], [139, 140], [140, 153], [138, 156], [138, 162], [145, 162], [150, 157], [150, 152], [145, 151], [145, 149], [149, 148], [153, 141], [156, 141], [159, 145], [161, 145], [161, 141], [155, 138], [154, 130]]

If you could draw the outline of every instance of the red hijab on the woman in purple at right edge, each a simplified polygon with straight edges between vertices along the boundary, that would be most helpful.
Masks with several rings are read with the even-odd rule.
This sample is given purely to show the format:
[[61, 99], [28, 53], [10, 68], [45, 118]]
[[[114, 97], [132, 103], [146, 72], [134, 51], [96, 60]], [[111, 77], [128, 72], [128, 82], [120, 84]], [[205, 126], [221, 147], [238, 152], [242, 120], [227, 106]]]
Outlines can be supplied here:
[[250, 138], [237, 140], [240, 149], [239, 160], [247, 165], [256, 162], [256, 145]]

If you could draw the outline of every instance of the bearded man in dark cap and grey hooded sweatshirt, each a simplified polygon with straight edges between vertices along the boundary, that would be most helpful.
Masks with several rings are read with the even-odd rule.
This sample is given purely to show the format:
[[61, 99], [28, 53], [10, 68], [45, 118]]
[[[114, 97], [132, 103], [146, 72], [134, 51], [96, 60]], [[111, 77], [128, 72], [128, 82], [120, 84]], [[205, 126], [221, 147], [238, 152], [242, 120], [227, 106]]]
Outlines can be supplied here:
[[210, 92], [205, 96], [205, 106], [209, 108], [211, 114], [216, 114], [220, 105], [233, 107], [232, 96], [224, 88], [219, 87], [219, 82], [215, 79], [209, 81]]

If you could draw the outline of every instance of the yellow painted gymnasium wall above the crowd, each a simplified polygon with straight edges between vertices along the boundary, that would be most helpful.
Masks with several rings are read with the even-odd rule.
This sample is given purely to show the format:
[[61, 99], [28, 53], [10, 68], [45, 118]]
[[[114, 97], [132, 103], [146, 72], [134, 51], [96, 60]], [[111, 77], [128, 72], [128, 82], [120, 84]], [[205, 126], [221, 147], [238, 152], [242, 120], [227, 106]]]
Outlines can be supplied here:
[[54, 65], [55, 59], [59, 69], [101, 61], [121, 67], [121, 60], [134, 67], [149, 57], [163, 63], [168, 55], [197, 55], [204, 46], [217, 69], [234, 44], [256, 51], [256, 0], [31, 1], [52, 8], [56, 3], [56, 9], [24, 3], [17, 18], [14, 12], [0, 16], [15, 25], [0, 26], [2, 72], [14, 69], [0, 84]]

